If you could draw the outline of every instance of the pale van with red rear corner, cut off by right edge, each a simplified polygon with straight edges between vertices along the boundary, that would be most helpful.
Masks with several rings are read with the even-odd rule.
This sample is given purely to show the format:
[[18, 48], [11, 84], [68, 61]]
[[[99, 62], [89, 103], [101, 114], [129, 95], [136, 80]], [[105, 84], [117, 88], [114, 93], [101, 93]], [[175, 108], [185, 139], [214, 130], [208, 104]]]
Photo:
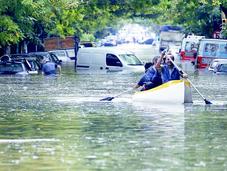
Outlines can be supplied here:
[[196, 58], [198, 68], [206, 68], [217, 58], [227, 59], [227, 40], [201, 39]]

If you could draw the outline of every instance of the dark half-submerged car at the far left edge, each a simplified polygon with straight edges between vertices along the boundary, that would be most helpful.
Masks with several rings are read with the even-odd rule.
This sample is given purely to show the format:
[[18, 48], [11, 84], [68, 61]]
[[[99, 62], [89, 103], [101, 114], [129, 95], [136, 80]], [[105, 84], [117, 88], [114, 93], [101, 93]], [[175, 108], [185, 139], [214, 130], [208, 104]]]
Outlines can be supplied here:
[[28, 71], [22, 62], [4, 61], [0, 62], [0, 74], [4, 75], [28, 75]]

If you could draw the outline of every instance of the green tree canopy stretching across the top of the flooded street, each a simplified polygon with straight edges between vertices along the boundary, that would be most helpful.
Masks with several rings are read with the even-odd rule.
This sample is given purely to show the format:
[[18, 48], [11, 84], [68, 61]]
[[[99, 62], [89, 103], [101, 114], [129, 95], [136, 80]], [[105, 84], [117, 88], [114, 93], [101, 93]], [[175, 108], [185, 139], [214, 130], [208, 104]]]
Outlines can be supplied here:
[[[181, 25], [186, 33], [212, 37], [222, 24], [220, 5], [227, 7], [227, 1], [0, 0], [0, 46], [38, 43], [48, 36], [100, 35], [128, 19]], [[226, 25], [222, 32], [226, 36]]]

